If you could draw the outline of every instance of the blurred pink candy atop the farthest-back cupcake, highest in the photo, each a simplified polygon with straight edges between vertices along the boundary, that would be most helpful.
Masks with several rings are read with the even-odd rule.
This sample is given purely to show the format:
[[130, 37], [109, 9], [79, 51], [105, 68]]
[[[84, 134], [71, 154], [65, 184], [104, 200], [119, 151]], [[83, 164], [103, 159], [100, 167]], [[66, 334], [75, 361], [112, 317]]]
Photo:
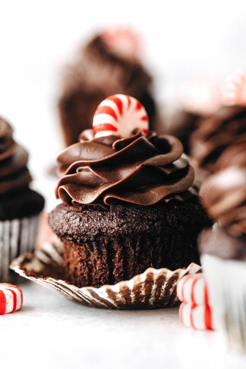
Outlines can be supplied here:
[[105, 30], [101, 39], [115, 55], [137, 60], [141, 53], [141, 37], [131, 28], [115, 27]]

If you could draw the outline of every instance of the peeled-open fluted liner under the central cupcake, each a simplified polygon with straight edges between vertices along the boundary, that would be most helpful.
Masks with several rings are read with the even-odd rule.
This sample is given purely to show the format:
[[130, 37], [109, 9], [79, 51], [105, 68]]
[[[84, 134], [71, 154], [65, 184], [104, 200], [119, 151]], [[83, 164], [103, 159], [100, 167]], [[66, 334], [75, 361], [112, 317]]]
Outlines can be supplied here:
[[176, 295], [177, 280], [201, 272], [191, 263], [187, 268], [171, 271], [148, 268], [144, 273], [114, 285], [76, 287], [65, 280], [63, 248], [60, 241], [45, 242], [41, 249], [15, 259], [10, 268], [19, 275], [53, 289], [70, 300], [98, 308], [150, 309], [180, 304]]

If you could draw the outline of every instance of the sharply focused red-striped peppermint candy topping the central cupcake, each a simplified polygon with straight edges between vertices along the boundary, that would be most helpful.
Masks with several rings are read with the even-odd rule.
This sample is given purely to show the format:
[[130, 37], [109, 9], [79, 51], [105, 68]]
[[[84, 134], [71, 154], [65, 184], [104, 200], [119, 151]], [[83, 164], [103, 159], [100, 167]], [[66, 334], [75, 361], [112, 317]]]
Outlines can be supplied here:
[[143, 105], [134, 97], [112, 95], [98, 105], [93, 118], [96, 138], [110, 135], [129, 137], [135, 128], [147, 134], [149, 118]]

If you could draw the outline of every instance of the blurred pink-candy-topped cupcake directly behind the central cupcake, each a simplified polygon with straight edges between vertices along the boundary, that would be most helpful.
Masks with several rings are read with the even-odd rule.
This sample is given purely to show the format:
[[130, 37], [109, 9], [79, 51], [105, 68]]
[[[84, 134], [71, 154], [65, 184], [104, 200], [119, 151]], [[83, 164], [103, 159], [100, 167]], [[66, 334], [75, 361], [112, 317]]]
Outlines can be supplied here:
[[131, 29], [109, 29], [93, 37], [67, 67], [59, 115], [66, 145], [77, 142], [91, 127], [94, 111], [107, 96], [116, 93], [136, 97], [155, 120], [152, 77], [140, 61], [140, 39]]

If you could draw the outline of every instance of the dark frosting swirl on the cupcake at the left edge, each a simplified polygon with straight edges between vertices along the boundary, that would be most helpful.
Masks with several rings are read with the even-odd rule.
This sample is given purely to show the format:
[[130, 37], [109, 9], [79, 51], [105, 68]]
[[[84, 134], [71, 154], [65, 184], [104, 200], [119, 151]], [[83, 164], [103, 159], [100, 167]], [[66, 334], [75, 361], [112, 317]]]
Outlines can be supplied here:
[[13, 129], [0, 117], [0, 195], [27, 187], [31, 182], [28, 153], [12, 135]]

